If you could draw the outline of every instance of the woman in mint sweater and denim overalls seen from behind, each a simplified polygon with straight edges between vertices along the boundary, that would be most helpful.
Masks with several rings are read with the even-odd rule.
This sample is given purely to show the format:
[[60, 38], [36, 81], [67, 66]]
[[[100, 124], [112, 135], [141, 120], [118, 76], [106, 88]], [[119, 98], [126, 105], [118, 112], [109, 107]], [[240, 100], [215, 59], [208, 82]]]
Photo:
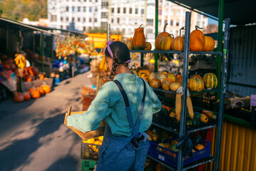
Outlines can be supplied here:
[[143, 170], [149, 148], [143, 132], [150, 127], [153, 113], [160, 111], [161, 103], [148, 83], [130, 73], [126, 44], [107, 44], [110, 81], [101, 87], [86, 113], [68, 116], [68, 126], [85, 133], [106, 121], [97, 171]]

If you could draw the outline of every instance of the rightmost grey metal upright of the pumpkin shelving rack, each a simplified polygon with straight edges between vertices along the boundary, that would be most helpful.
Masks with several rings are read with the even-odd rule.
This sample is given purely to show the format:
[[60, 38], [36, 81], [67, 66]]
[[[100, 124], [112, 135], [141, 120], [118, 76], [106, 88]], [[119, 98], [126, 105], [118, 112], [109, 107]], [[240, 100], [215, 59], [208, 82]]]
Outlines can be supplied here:
[[221, 75], [221, 90], [220, 90], [220, 108], [219, 118], [217, 120], [217, 140], [216, 140], [216, 155], [215, 155], [215, 170], [219, 170], [220, 163], [220, 147], [221, 147], [221, 132], [223, 120], [224, 95], [226, 93], [226, 79], [227, 79], [227, 59], [228, 59], [228, 41], [230, 39], [230, 19], [225, 19], [225, 35], [224, 35], [224, 49], [222, 56], [222, 75]]

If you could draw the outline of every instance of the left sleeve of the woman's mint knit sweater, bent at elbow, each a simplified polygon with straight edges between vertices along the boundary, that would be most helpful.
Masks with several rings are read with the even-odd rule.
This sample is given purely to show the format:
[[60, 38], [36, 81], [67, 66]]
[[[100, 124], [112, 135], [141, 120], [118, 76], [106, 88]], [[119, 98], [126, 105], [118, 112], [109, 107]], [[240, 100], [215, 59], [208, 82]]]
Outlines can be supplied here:
[[102, 86], [96, 98], [85, 113], [70, 115], [67, 118], [68, 126], [73, 126], [77, 130], [86, 133], [96, 130], [103, 120], [111, 113], [111, 98], [108, 95], [107, 86]]

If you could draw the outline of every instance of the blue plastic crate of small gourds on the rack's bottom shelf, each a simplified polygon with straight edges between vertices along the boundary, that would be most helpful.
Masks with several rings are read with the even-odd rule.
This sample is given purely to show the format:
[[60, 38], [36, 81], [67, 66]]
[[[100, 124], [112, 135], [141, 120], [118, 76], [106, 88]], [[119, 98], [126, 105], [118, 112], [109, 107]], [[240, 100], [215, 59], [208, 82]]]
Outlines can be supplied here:
[[[191, 162], [195, 162], [210, 155], [210, 142], [207, 142], [205, 140], [200, 140], [200, 142], [205, 146], [205, 148], [193, 152], [193, 156], [187, 155], [183, 157], [183, 165], [188, 165]], [[163, 150], [160, 151], [158, 150], [159, 148]], [[175, 152], [165, 147], [161, 147], [153, 141], [150, 141], [148, 155], [163, 160], [163, 162], [166, 162], [174, 167], [177, 167], [178, 165], [178, 152]]]

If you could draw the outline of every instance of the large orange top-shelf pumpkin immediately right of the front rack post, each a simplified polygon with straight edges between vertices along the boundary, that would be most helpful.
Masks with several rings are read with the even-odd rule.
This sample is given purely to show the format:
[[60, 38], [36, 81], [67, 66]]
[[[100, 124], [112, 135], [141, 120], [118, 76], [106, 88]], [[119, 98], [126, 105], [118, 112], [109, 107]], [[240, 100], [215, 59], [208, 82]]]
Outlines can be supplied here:
[[195, 30], [190, 33], [190, 51], [203, 51], [205, 47], [205, 36], [198, 28], [195, 26]]

